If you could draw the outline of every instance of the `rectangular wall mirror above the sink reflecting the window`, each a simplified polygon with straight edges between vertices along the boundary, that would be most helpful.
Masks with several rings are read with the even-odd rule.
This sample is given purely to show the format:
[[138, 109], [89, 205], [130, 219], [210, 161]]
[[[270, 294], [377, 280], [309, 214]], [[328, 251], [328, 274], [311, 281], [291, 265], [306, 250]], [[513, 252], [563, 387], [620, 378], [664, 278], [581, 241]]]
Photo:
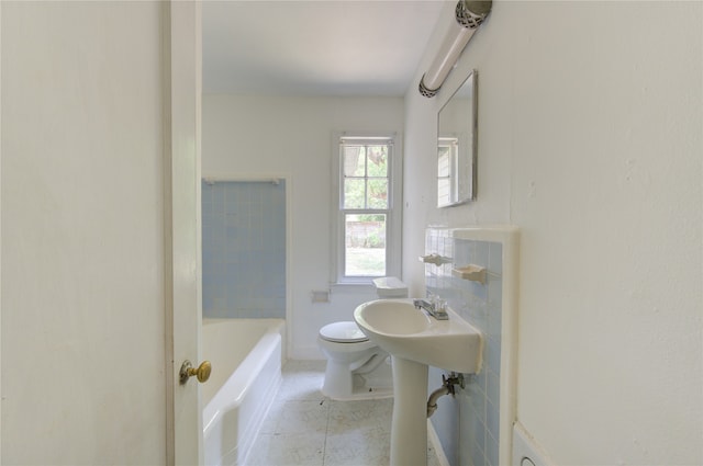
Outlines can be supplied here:
[[478, 75], [473, 70], [437, 117], [437, 207], [476, 200]]

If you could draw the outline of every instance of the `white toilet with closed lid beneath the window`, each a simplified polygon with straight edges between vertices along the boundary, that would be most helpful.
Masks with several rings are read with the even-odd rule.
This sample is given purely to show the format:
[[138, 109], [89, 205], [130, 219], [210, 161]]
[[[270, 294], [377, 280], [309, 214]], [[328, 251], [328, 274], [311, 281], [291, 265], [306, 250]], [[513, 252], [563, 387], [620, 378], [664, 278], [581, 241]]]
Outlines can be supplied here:
[[[381, 299], [408, 297], [394, 276], [373, 280]], [[322, 394], [336, 400], [384, 398], [393, 394], [389, 354], [372, 343], [355, 321], [324, 326], [317, 345], [327, 359]]]

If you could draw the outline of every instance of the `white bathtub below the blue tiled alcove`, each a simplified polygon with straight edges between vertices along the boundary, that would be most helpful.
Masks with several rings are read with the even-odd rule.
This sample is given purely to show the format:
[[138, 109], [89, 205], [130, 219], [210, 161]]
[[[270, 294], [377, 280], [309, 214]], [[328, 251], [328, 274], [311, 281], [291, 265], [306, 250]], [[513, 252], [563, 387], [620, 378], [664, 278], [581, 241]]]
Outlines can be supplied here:
[[203, 319], [205, 465], [242, 465], [281, 383], [284, 320]]

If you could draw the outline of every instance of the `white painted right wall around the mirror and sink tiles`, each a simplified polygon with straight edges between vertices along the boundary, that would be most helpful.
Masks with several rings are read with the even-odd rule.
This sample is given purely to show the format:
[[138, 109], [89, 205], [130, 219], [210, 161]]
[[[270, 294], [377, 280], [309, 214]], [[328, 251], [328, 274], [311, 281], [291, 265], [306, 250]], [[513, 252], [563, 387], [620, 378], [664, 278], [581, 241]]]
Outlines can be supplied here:
[[[443, 91], [406, 94], [403, 275], [422, 292], [429, 224], [522, 228], [517, 416], [557, 464], [703, 463], [702, 31], [701, 2], [494, 1]], [[478, 201], [436, 209], [471, 68]]]

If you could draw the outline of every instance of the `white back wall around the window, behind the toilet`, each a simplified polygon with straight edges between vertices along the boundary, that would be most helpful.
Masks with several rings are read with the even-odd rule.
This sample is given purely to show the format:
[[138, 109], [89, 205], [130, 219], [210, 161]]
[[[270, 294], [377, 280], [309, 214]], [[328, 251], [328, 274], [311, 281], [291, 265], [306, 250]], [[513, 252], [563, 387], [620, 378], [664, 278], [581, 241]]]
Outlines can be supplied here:
[[375, 298], [370, 287], [334, 288], [331, 303], [311, 292], [330, 289], [331, 167], [333, 132], [389, 130], [402, 138], [403, 100], [282, 98], [212, 94], [203, 98], [203, 175], [276, 175], [290, 183], [291, 243], [289, 355], [322, 357], [319, 329], [350, 320], [354, 308]]

